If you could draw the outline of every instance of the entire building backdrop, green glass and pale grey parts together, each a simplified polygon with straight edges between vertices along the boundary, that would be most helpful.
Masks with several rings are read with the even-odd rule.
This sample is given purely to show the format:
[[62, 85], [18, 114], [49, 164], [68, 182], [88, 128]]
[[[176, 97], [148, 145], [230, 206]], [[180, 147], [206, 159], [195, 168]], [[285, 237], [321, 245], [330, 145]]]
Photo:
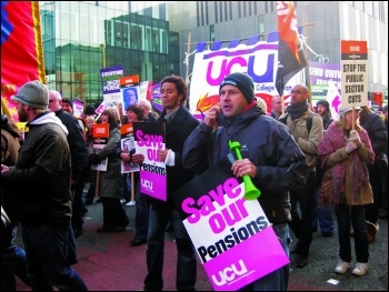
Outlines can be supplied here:
[[[340, 63], [341, 40], [368, 42], [368, 91], [387, 94], [388, 3], [295, 1], [308, 60]], [[100, 69], [159, 82], [190, 82], [197, 42], [277, 31], [277, 1], [40, 1], [48, 85], [87, 103], [102, 101]], [[387, 99], [387, 97], [386, 97]]]

